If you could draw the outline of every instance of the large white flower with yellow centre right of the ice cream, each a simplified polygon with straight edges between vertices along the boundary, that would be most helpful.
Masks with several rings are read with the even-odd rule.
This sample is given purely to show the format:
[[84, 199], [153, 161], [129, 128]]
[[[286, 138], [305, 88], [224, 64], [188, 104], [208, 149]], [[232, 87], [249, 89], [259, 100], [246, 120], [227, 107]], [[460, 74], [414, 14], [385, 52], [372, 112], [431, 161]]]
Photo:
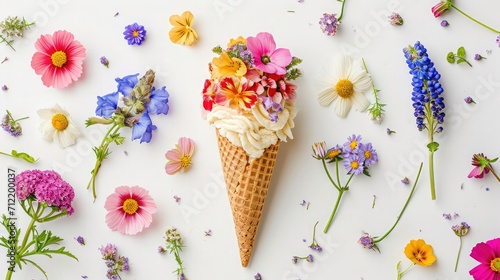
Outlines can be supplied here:
[[318, 93], [319, 104], [328, 106], [335, 101], [335, 113], [341, 118], [347, 117], [352, 107], [366, 111], [370, 102], [364, 93], [371, 88], [371, 80], [361, 62], [353, 63], [349, 56], [343, 56], [331, 68]]

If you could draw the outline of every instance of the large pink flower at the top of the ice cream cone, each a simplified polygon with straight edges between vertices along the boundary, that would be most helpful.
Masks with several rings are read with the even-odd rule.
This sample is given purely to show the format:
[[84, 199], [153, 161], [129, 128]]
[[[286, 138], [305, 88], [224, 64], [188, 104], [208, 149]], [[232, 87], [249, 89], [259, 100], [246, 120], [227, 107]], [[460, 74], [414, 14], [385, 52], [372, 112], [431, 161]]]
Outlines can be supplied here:
[[276, 49], [273, 35], [267, 32], [248, 37], [247, 49], [254, 57], [255, 67], [270, 74], [286, 74], [286, 67], [292, 62], [290, 51], [284, 48]]

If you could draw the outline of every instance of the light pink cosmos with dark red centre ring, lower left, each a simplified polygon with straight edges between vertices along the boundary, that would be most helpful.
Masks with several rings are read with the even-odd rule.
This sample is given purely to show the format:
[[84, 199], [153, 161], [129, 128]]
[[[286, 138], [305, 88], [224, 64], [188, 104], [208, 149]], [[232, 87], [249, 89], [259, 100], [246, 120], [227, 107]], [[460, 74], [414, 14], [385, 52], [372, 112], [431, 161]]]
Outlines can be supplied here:
[[106, 224], [121, 234], [134, 235], [147, 228], [156, 213], [156, 204], [148, 190], [139, 186], [120, 186], [106, 198]]

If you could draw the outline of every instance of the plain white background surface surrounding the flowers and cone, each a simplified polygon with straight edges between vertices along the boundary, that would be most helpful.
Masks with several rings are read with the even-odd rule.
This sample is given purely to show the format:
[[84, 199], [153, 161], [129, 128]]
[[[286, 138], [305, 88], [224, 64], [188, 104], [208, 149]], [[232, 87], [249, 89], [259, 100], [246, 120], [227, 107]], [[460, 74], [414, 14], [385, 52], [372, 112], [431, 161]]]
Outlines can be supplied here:
[[[455, 1], [458, 7], [485, 23], [500, 28], [495, 0]], [[498, 103], [500, 101], [500, 49], [496, 34], [468, 20], [456, 11], [443, 18], [450, 26], [443, 28], [441, 18], [430, 9], [437, 0], [347, 0], [342, 26], [335, 37], [324, 35], [318, 25], [323, 13], [338, 13], [341, 3], [334, 0], [242, 1], [74, 1], [74, 0], [1, 0], [0, 18], [24, 16], [37, 25], [17, 39], [12, 51], [0, 46], [0, 85], [10, 89], [0, 92], [0, 111], [9, 109], [14, 116], [29, 116], [22, 121], [19, 138], [0, 133], [0, 150], [23, 150], [39, 157], [30, 165], [2, 157], [0, 181], [7, 182], [7, 167], [55, 169], [75, 188], [75, 213], [40, 225], [50, 228], [65, 240], [61, 245], [79, 261], [55, 256], [37, 257], [49, 279], [105, 279], [106, 267], [98, 248], [115, 243], [119, 254], [130, 259], [130, 271], [122, 279], [175, 279], [171, 273], [176, 263], [171, 255], [160, 255], [163, 234], [175, 226], [184, 237], [186, 248], [182, 259], [186, 276], [191, 279], [253, 279], [260, 272], [265, 280], [280, 279], [395, 279], [396, 263], [410, 264], [403, 250], [411, 239], [423, 238], [434, 247], [437, 261], [431, 267], [414, 267], [404, 279], [472, 279], [468, 271], [477, 262], [469, 257], [471, 248], [481, 241], [499, 236], [498, 197], [500, 183], [491, 174], [483, 180], [468, 179], [471, 157], [483, 152], [490, 158], [498, 150]], [[168, 18], [190, 10], [195, 16], [194, 28], [199, 41], [192, 47], [170, 42]], [[397, 11], [404, 25], [391, 26], [389, 12]], [[119, 15], [114, 16], [119, 12]], [[129, 46], [122, 32], [137, 22], [147, 29], [141, 46]], [[65, 89], [46, 88], [34, 73], [30, 61], [34, 43], [42, 34], [64, 29], [72, 32], [87, 50], [83, 76]], [[267, 31], [274, 35], [278, 47], [289, 48], [303, 59], [303, 76], [298, 85], [299, 114], [295, 119], [294, 139], [281, 145], [265, 212], [261, 220], [250, 265], [240, 265], [233, 221], [218, 158], [214, 128], [200, 115], [201, 90], [208, 77], [207, 64], [211, 49], [225, 45], [239, 35], [254, 36]], [[411, 106], [411, 76], [402, 49], [421, 41], [442, 74], [446, 103], [444, 131], [437, 137], [441, 146], [435, 155], [437, 200], [430, 198], [426, 133], [415, 126]], [[449, 51], [459, 46], [467, 50], [473, 64], [452, 65], [446, 61]], [[491, 50], [491, 54], [487, 54]], [[475, 53], [487, 59], [474, 61]], [[352, 111], [346, 119], [338, 118], [333, 107], [321, 107], [316, 99], [318, 77], [327, 62], [336, 55], [364, 58], [373, 81], [386, 103], [382, 124], [374, 124], [367, 113]], [[99, 63], [106, 56], [107, 69]], [[86, 189], [94, 164], [91, 147], [100, 141], [104, 128], [85, 128], [84, 121], [94, 115], [96, 97], [115, 91], [116, 77], [156, 71], [156, 85], [165, 85], [170, 93], [171, 110], [167, 116], [154, 116], [158, 126], [149, 144], [127, 141], [111, 146], [113, 153], [103, 163], [97, 179], [98, 198], [92, 202]], [[366, 93], [372, 98], [371, 92]], [[471, 96], [477, 104], [465, 104]], [[83, 133], [75, 146], [61, 149], [42, 139], [38, 132], [36, 110], [60, 104], [69, 110]], [[388, 136], [386, 128], [396, 131]], [[371, 168], [372, 176], [355, 177], [344, 196], [339, 212], [328, 234], [321, 232], [330, 215], [336, 191], [330, 185], [319, 161], [313, 159], [311, 145], [326, 141], [329, 146], [346, 141], [351, 134], [361, 134], [372, 142], [379, 163]], [[164, 154], [179, 137], [196, 142], [193, 166], [187, 173], [169, 176], [164, 172]], [[126, 152], [126, 153], [125, 153]], [[400, 180], [415, 179], [418, 165], [424, 170], [414, 196], [396, 229], [379, 244], [381, 253], [357, 244], [365, 230], [372, 235], [384, 234], [395, 221], [410, 187]], [[494, 165], [495, 166], [495, 165]], [[500, 166], [498, 167], [500, 170]], [[6, 183], [2, 183], [6, 185]], [[105, 198], [120, 185], [140, 185], [150, 191], [158, 212], [152, 225], [135, 236], [112, 232], [105, 224]], [[461, 187], [463, 186], [463, 188]], [[489, 191], [487, 191], [489, 188]], [[5, 212], [6, 191], [0, 195], [0, 212]], [[176, 203], [173, 196], [181, 197]], [[372, 208], [373, 196], [376, 196]], [[310, 203], [306, 209], [302, 200]], [[445, 220], [443, 213], [457, 212], [460, 217]], [[27, 216], [18, 207], [18, 225], [24, 230]], [[319, 221], [316, 238], [323, 252], [311, 251], [313, 225]], [[458, 237], [452, 225], [466, 221], [470, 233], [463, 238], [458, 271], [453, 272]], [[205, 231], [212, 230], [212, 236]], [[6, 234], [2, 232], [2, 234]], [[86, 240], [81, 246], [77, 236]], [[306, 239], [306, 242], [303, 241]], [[292, 264], [294, 255], [312, 253], [313, 263]], [[4, 255], [4, 254], [2, 254]], [[0, 275], [6, 262], [1, 261]], [[14, 279], [43, 279], [32, 266], [14, 274]]]

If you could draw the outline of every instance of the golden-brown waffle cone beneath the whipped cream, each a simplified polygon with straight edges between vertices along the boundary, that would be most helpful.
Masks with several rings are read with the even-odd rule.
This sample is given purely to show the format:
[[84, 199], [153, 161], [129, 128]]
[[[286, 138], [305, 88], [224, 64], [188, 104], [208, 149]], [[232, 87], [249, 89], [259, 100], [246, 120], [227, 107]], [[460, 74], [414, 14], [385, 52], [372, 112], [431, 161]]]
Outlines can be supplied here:
[[250, 160], [243, 148], [233, 145], [218, 131], [217, 139], [241, 265], [246, 267], [252, 256], [280, 141], [268, 147], [262, 157]]

